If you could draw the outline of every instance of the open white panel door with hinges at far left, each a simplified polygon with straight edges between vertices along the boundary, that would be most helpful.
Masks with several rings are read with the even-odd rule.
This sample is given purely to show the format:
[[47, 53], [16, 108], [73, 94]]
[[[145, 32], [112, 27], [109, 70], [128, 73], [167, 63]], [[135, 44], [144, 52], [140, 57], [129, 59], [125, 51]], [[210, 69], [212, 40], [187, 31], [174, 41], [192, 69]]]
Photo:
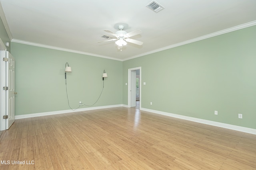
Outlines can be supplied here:
[[14, 57], [8, 52], [6, 54], [8, 58], [8, 63], [6, 63], [6, 86], [8, 87], [8, 92], [6, 94], [6, 114], [8, 114], [8, 119], [6, 119], [6, 129], [9, 129], [12, 123], [14, 123], [14, 102], [15, 102], [15, 60]]

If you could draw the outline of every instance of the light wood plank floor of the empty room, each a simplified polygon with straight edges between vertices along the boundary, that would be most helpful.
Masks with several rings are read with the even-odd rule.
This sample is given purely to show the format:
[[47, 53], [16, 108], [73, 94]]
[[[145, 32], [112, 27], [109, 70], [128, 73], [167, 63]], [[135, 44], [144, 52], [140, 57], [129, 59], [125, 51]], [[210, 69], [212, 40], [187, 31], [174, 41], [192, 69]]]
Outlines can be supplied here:
[[18, 119], [0, 160], [1, 170], [253, 170], [256, 135], [116, 107]]

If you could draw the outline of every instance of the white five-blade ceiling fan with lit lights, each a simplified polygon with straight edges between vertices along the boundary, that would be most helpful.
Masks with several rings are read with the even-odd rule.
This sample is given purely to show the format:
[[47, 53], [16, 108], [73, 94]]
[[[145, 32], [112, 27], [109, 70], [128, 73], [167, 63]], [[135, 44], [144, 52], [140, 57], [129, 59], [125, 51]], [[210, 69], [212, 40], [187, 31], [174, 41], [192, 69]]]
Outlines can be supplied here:
[[127, 33], [126, 31], [124, 31], [124, 25], [119, 25], [118, 26], [119, 31], [116, 31], [116, 33], [113, 33], [112, 31], [109, 30], [104, 30], [107, 33], [113, 35], [113, 36], [109, 36], [112, 39], [108, 39], [108, 40], [104, 40], [104, 41], [99, 41], [98, 43], [102, 43], [102, 42], [107, 42], [107, 41], [116, 41], [116, 45], [118, 45], [118, 49], [121, 48], [122, 51], [122, 46], [126, 45], [128, 43], [134, 43], [136, 45], [142, 45], [143, 42], [135, 40], [135, 39], [130, 39], [130, 37], [133, 37], [135, 35], [138, 35], [140, 33], [142, 33], [142, 31], [140, 29], [136, 29], [134, 31], [131, 31], [129, 33]]

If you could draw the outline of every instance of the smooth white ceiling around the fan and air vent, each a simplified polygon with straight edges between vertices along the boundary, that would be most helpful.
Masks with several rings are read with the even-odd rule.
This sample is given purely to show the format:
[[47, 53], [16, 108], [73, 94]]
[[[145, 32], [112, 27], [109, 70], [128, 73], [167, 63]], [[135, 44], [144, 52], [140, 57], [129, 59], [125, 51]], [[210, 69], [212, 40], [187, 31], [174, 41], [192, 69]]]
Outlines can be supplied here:
[[[120, 61], [256, 21], [256, 0], [156, 0], [165, 8], [158, 13], [146, 8], [151, 1], [0, 0], [12, 41]], [[98, 43], [118, 23], [142, 30], [132, 38], [144, 44], [120, 51], [114, 41]]]

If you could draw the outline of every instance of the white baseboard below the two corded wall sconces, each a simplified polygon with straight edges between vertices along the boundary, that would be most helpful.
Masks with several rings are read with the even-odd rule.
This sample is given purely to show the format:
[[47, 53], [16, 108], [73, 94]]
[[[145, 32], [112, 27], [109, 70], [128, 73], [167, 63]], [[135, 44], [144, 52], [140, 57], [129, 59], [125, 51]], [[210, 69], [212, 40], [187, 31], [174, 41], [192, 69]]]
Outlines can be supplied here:
[[95, 109], [106, 109], [111, 107], [122, 107], [122, 104], [117, 105], [109, 105], [109, 106], [98, 106], [98, 107], [86, 107], [86, 108], [79, 108], [76, 110], [60, 110], [60, 111], [49, 111], [49, 112], [43, 112], [43, 113], [32, 113], [32, 114], [26, 114], [26, 115], [16, 115], [14, 119], [24, 119], [24, 118], [30, 118], [30, 117], [39, 117], [39, 116], [47, 116], [47, 115], [57, 115], [62, 113], [71, 113], [71, 112], [77, 112], [77, 111], [88, 111], [88, 110], [95, 110]]

